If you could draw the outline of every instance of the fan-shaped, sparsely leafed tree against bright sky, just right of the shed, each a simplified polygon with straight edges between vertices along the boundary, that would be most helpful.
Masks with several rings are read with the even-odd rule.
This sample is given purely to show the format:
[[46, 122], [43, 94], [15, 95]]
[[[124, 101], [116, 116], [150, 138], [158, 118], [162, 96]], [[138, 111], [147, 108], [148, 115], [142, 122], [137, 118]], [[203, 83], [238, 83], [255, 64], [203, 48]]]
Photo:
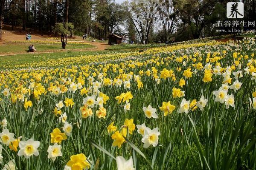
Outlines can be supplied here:
[[148, 43], [148, 36], [157, 21], [157, 10], [152, 0], [132, 0], [130, 17], [137, 30], [141, 42]]

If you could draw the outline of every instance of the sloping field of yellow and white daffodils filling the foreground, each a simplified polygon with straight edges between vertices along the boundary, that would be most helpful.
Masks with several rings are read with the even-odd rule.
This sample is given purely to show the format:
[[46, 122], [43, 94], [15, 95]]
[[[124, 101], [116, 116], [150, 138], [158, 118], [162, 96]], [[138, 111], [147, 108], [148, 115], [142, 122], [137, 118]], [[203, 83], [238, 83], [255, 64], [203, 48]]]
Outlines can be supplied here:
[[256, 169], [256, 44], [7, 62], [0, 169]]

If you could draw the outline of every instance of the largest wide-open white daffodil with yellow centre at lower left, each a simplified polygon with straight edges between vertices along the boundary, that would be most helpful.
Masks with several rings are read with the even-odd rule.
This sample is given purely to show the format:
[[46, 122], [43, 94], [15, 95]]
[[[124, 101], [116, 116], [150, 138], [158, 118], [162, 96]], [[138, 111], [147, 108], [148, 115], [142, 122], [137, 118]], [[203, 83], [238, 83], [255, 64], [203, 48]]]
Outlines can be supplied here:
[[20, 141], [19, 147], [20, 150], [18, 152], [18, 156], [25, 156], [25, 158], [29, 158], [32, 155], [38, 156], [38, 147], [40, 146], [39, 141], [34, 141], [34, 139], [29, 139], [28, 141]]

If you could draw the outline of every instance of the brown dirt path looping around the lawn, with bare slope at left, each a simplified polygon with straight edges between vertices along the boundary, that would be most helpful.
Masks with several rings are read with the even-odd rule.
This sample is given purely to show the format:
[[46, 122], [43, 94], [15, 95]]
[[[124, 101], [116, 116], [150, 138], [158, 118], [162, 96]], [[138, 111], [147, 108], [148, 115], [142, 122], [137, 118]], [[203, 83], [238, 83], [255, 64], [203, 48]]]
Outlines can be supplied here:
[[[31, 40], [44, 41], [47, 39], [47, 37], [52, 37], [51, 35], [39, 34], [38, 32], [34, 32], [32, 30], [22, 31], [21, 28], [15, 28], [15, 30], [12, 31], [10, 30], [10, 26], [5, 25], [3, 28], [3, 35], [2, 35], [3, 41], [0, 41], [0, 46], [8, 41], [23, 41], [26, 39], [26, 33], [28, 32], [31, 34]], [[79, 40], [79, 41], [90, 43], [91, 45], [94, 45], [95, 48], [48, 50], [48, 51], [41, 51], [41, 52], [36, 52], [32, 54], [43, 54], [43, 53], [52, 53], [52, 52], [57, 53], [57, 52], [63, 52], [63, 51], [103, 51], [109, 47], [109, 45], [104, 42], [92, 42], [88, 40], [83, 40], [82, 37], [77, 37], [77, 36], [73, 37], [72, 40]], [[9, 55], [17, 55], [17, 54], [29, 54], [29, 52], [1, 53], [0, 56], [9, 56]]]

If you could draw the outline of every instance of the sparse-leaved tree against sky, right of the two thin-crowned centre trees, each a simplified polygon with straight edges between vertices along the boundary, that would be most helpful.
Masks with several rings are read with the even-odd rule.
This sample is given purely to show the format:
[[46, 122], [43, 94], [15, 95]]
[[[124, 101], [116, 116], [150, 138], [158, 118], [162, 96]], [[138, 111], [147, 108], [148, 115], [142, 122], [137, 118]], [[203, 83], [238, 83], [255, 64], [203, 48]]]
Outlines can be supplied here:
[[157, 11], [159, 12], [160, 21], [163, 27], [163, 35], [165, 42], [169, 40], [170, 35], [174, 32], [178, 23], [178, 10], [172, 6], [171, 0], [158, 0], [156, 3]]

